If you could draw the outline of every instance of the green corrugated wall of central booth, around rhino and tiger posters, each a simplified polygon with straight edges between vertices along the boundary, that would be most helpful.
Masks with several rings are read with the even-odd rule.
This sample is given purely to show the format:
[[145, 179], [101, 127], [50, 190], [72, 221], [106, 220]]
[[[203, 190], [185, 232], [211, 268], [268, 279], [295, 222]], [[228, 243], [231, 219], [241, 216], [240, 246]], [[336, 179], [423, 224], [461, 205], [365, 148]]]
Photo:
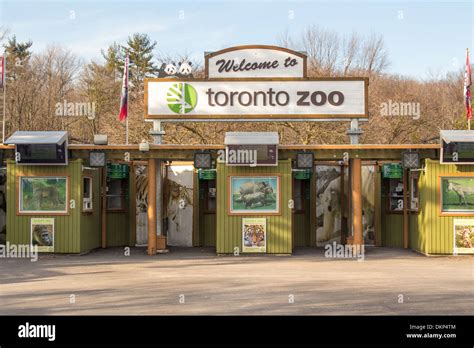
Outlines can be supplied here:
[[247, 216], [227, 215], [227, 175], [280, 174], [281, 215], [249, 215], [267, 219], [267, 253], [291, 254], [292, 214], [288, 200], [292, 198], [291, 160], [278, 161], [276, 167], [232, 167], [217, 165], [217, 253], [233, 253], [242, 250], [242, 218]]

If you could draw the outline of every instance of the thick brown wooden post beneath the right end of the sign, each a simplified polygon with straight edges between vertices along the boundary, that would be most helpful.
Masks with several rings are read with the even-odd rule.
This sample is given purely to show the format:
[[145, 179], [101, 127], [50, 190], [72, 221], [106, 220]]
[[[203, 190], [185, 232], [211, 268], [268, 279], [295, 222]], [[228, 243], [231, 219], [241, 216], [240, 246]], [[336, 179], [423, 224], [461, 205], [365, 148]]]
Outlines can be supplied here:
[[351, 160], [352, 186], [352, 231], [353, 244], [364, 244], [362, 235], [362, 161], [360, 158]]

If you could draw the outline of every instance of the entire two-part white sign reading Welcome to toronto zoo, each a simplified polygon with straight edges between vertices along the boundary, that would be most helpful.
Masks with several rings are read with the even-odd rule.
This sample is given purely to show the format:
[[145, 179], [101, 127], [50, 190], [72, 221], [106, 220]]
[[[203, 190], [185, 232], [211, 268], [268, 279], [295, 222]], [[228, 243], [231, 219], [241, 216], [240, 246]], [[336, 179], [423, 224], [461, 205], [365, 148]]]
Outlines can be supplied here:
[[306, 55], [239, 46], [205, 55], [205, 79], [145, 80], [145, 118], [284, 120], [368, 118], [367, 78], [306, 76]]

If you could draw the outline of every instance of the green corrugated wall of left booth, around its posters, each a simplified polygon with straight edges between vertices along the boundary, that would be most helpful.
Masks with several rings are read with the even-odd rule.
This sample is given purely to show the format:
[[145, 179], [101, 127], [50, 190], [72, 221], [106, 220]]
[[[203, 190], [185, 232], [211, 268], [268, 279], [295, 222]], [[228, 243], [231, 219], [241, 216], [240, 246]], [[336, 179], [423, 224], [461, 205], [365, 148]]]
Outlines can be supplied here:
[[[17, 215], [17, 176], [67, 175], [69, 176], [69, 200], [76, 202], [68, 215]], [[81, 182], [82, 160], [71, 160], [67, 166], [25, 166], [7, 162], [7, 241], [12, 244], [30, 244], [31, 218], [54, 218], [54, 252], [77, 253], [81, 251]], [[81, 203], [81, 204], [80, 204]]]

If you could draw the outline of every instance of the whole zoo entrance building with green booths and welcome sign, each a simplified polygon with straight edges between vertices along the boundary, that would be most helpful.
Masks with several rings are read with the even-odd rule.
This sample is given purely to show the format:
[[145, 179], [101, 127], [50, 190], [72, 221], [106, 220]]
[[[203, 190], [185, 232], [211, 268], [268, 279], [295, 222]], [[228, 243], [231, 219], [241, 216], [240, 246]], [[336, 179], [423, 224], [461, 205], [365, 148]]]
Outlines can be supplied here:
[[[204, 79], [145, 82], [151, 144], [12, 134], [1, 145], [6, 241], [54, 253], [292, 254], [328, 243], [473, 253], [474, 132], [442, 131], [439, 144], [358, 144], [368, 79], [310, 79], [304, 53], [274, 46], [232, 47], [205, 62]], [[350, 122], [351, 143], [280, 145], [271, 132], [162, 143], [162, 122], [209, 120]]]

